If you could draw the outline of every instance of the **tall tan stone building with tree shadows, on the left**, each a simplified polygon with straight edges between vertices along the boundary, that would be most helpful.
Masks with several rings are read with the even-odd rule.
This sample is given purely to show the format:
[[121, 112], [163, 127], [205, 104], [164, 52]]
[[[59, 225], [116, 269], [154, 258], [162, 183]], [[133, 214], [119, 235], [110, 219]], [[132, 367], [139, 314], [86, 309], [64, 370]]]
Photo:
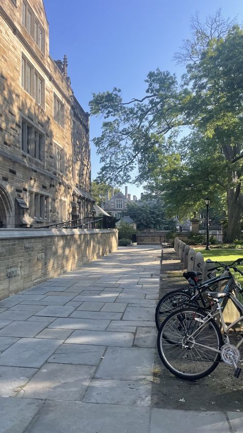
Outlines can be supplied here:
[[0, 227], [90, 215], [89, 115], [67, 57], [49, 55], [42, 0], [0, 2]]

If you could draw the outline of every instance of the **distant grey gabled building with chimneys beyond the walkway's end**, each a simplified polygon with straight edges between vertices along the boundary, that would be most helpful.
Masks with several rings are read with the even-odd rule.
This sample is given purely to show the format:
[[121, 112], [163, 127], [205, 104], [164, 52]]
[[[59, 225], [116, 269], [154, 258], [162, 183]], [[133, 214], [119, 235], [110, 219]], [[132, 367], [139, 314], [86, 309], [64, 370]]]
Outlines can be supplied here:
[[[141, 197], [143, 193], [141, 193]], [[136, 195], [133, 195], [134, 203], [137, 203]], [[122, 192], [117, 192], [113, 194], [113, 190], [111, 191], [111, 197], [109, 195], [109, 191], [106, 193], [106, 202], [102, 204], [102, 208], [108, 212], [110, 215], [119, 220], [122, 217], [122, 213], [127, 209], [127, 204], [131, 202], [131, 194], [128, 194], [128, 187], [125, 187], [125, 194]]]

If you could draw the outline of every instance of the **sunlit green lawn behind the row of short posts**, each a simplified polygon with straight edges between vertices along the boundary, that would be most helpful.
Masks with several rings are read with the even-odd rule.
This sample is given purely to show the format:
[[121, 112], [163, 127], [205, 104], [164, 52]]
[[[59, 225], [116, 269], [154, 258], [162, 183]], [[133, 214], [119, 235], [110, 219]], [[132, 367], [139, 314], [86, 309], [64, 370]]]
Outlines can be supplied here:
[[[243, 258], [243, 250], [241, 249], [227, 249], [227, 248], [213, 248], [207, 250], [205, 248], [196, 248], [196, 252], [201, 252], [202, 256], [204, 256], [204, 260], [211, 259], [213, 262], [218, 261], [221, 263], [229, 264], [234, 262], [236, 259], [240, 257]], [[237, 266], [243, 272], [243, 262], [241, 265]], [[243, 287], [243, 277], [237, 274], [238, 281], [241, 283], [241, 287]]]

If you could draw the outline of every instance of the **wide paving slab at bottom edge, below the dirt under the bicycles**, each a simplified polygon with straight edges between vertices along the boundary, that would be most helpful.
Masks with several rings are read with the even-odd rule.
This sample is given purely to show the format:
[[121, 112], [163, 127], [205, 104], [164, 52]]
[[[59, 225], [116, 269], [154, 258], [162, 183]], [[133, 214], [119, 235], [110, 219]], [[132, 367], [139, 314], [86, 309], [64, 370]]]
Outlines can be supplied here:
[[[151, 433], [232, 433], [221, 412], [152, 409]], [[242, 431], [242, 430], [241, 430]]]

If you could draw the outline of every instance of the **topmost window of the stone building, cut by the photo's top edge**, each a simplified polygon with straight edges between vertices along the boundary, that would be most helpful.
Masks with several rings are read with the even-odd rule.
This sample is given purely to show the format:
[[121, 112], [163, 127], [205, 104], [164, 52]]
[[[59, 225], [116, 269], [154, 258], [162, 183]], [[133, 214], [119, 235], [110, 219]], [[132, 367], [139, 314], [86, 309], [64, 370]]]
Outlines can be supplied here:
[[45, 30], [40, 25], [34, 12], [28, 5], [28, 3], [23, 0], [22, 6], [22, 24], [31, 35], [31, 38], [35, 41], [39, 49], [45, 52]]

